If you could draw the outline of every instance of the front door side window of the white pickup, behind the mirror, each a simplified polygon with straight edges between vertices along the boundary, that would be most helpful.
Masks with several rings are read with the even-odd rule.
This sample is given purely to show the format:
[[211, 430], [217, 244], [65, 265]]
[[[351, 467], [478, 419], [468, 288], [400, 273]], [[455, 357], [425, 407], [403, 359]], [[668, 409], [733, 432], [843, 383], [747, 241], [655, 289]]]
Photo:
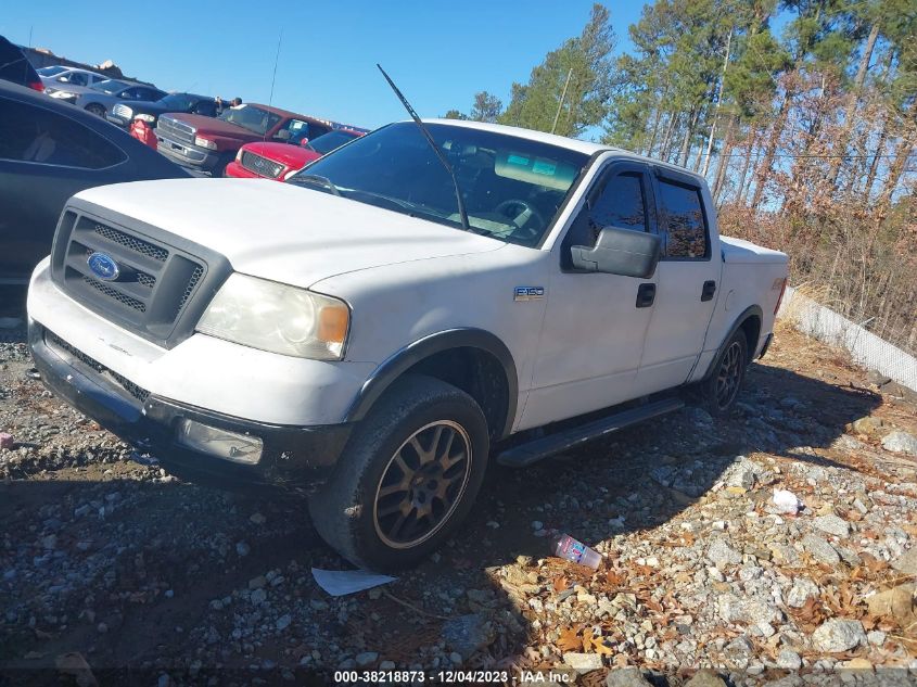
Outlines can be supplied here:
[[[647, 231], [647, 202], [645, 176], [639, 171], [614, 174], [598, 192], [591, 195], [590, 204], [585, 206], [563, 239], [561, 246], [561, 267], [573, 269], [570, 247], [574, 245], [593, 246], [599, 232], [606, 227]], [[602, 183], [602, 182], [600, 182]]]

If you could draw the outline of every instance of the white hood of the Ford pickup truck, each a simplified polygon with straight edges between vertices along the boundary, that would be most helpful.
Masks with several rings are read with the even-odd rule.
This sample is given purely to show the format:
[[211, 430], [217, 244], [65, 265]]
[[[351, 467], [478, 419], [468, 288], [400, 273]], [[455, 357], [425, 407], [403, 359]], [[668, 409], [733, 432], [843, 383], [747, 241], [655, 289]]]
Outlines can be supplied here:
[[343, 272], [496, 251], [495, 239], [322, 191], [256, 179], [168, 179], [80, 191], [89, 208], [141, 220], [225, 255], [246, 275], [308, 288]]

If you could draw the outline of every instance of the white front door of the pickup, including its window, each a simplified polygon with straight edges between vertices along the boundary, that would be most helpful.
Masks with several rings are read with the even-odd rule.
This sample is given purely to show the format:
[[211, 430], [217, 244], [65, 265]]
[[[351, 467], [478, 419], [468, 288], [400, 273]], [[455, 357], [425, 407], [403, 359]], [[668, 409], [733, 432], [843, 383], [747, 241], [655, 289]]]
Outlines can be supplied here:
[[604, 227], [653, 230], [648, 168], [629, 161], [612, 161], [585, 198], [566, 234], [552, 250], [557, 268], [547, 284], [548, 303], [532, 390], [518, 429], [539, 427], [634, 396], [653, 311], [652, 298], [648, 297], [653, 280], [578, 271], [571, 264], [570, 247], [594, 245]]

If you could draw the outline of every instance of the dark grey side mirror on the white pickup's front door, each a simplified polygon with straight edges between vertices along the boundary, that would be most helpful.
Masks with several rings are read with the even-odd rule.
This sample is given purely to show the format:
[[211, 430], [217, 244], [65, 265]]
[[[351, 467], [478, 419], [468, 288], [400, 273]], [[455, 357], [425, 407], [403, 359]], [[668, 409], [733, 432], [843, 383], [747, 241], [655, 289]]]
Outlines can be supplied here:
[[661, 250], [662, 242], [653, 233], [607, 227], [599, 232], [595, 246], [574, 245], [570, 252], [577, 269], [649, 279]]

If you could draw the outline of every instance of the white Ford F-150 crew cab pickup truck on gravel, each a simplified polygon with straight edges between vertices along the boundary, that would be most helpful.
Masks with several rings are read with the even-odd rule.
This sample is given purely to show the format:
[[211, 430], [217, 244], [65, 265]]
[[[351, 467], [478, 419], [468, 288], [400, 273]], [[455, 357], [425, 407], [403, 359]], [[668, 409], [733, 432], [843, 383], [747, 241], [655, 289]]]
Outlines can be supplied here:
[[447, 538], [488, 459], [526, 466], [686, 386], [731, 408], [787, 256], [718, 236], [700, 176], [426, 127], [447, 165], [407, 122], [289, 183], [75, 195], [28, 294], [44, 383], [180, 474], [307, 487], [321, 535], [377, 570]]

